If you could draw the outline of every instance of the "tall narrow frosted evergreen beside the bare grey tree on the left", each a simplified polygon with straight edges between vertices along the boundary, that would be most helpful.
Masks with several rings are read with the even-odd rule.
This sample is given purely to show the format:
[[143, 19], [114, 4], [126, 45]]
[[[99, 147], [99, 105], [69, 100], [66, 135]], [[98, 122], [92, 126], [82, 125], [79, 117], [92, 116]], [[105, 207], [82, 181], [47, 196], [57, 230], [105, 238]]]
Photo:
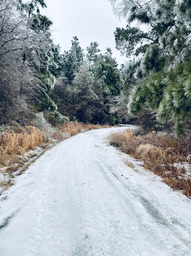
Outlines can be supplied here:
[[[50, 99], [50, 94], [55, 84], [55, 78], [59, 76], [62, 68], [62, 57], [59, 46], [54, 45], [50, 38], [52, 21], [39, 12], [39, 7], [46, 7], [44, 0], [32, 0], [27, 3], [19, 0], [19, 3], [23, 15], [28, 17], [28, 22], [31, 25], [31, 29], [35, 31], [37, 38], [40, 34], [45, 35], [45, 47], [28, 49], [23, 57], [25, 61], [27, 60], [33, 65], [36, 77], [42, 83], [43, 89], [38, 97], [39, 101], [34, 106], [38, 111], [55, 111], [57, 106]], [[43, 45], [44, 42], [40, 42]], [[39, 56], [39, 62], [36, 61], [36, 55]]]

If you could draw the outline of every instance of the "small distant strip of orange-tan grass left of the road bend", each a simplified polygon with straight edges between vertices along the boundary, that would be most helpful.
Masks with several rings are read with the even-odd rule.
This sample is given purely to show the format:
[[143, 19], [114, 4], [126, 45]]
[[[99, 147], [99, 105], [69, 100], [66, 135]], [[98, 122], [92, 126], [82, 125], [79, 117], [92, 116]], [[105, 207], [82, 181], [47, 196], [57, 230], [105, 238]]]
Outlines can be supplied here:
[[71, 135], [76, 135], [80, 132], [85, 132], [88, 130], [93, 129], [100, 129], [100, 128], [108, 128], [108, 125], [95, 125], [95, 124], [83, 124], [81, 122], [65, 122], [62, 126], [59, 126], [59, 129], [62, 132], [69, 133]]

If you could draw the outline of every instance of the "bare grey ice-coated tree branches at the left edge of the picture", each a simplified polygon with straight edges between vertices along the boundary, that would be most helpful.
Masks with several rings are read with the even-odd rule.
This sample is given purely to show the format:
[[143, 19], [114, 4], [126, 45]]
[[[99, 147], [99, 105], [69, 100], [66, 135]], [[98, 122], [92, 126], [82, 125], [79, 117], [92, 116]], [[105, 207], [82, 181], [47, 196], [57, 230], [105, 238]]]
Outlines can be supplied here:
[[24, 122], [31, 114], [43, 84], [34, 71], [42, 65], [42, 53], [49, 48], [49, 35], [36, 31], [15, 0], [0, 1], [0, 124]]

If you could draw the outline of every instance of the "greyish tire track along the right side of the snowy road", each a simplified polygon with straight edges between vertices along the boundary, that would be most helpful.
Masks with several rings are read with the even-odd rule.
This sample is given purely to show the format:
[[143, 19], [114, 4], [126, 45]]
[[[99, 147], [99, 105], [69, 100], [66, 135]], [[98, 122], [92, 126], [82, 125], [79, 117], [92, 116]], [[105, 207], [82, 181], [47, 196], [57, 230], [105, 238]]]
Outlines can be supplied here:
[[[169, 211], [168, 206], [162, 203], [159, 200], [159, 197], [156, 194], [154, 194], [153, 191], [150, 190], [148, 186], [143, 185], [143, 183], [141, 183], [141, 180], [139, 180], [138, 186], [134, 185], [134, 180], [131, 183], [128, 182], [129, 185], [127, 185], [127, 181], [126, 180], [124, 181], [124, 176], [121, 177], [120, 175], [120, 173], [122, 173], [122, 170], [120, 172], [120, 169], [119, 169], [119, 172], [118, 172], [119, 174], [116, 175], [115, 170], [112, 170], [112, 166], [110, 165], [110, 162], [108, 162], [107, 165], [103, 162], [101, 168], [104, 169], [104, 167], [106, 167], [108, 170], [108, 172], [104, 172], [104, 173], [110, 173], [110, 174], [112, 173], [113, 176], [115, 177], [114, 180], [117, 179], [119, 183], [123, 184], [123, 187], [125, 188], [125, 197], [123, 194], [123, 200], [127, 201], [127, 198], [128, 200], [130, 200], [131, 198], [130, 203], [127, 201], [128, 206], [129, 205], [133, 206], [136, 204], [137, 207], [131, 208], [131, 213], [134, 212], [135, 217], [137, 215], [138, 217], [137, 223], [138, 222], [143, 223], [144, 219], [142, 218], [142, 213], [143, 212], [147, 213], [149, 215], [147, 216], [147, 218], [151, 217], [152, 219], [154, 219], [155, 222], [158, 223], [158, 225], [161, 226], [162, 229], [168, 229], [168, 230], [170, 229], [172, 231], [172, 235], [175, 236], [175, 239], [178, 238], [191, 249], [191, 243], [190, 243], [190, 240], [188, 239], [190, 236], [190, 229], [186, 226], [185, 223], [183, 223], [183, 220], [178, 221], [175, 213], [173, 213], [173, 210], [170, 209]], [[115, 187], [116, 182], [112, 181], [113, 180], [112, 176], [110, 176], [109, 179], [110, 179], [110, 183], [111, 184], [113, 183]], [[129, 177], [127, 179], [129, 179]], [[119, 185], [118, 188], [121, 188], [121, 186]], [[138, 211], [139, 205], [144, 206], [145, 209]], [[135, 209], [137, 212], [135, 211]], [[138, 214], [139, 212], [141, 212], [141, 215]], [[148, 222], [147, 218], [146, 218], [146, 222]], [[151, 231], [152, 233], [148, 232], [148, 234], [150, 236], [155, 236], [155, 231], [153, 232], [152, 228], [151, 228]], [[160, 238], [157, 237], [157, 240], [158, 239]], [[163, 239], [161, 241], [163, 241]]]

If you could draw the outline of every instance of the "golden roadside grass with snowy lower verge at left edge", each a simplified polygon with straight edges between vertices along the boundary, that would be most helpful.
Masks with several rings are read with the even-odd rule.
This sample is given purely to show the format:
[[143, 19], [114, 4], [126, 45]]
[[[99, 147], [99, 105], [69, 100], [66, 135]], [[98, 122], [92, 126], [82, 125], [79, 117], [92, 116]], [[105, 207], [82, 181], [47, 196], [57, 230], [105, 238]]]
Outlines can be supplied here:
[[[16, 128], [0, 132], [0, 187], [2, 193], [13, 185], [13, 173], [26, 170], [25, 162], [28, 157], [24, 154], [29, 150], [36, 149], [37, 146], [44, 147], [46, 137], [34, 126], [25, 128], [16, 124]], [[31, 155], [32, 157], [32, 155]]]

